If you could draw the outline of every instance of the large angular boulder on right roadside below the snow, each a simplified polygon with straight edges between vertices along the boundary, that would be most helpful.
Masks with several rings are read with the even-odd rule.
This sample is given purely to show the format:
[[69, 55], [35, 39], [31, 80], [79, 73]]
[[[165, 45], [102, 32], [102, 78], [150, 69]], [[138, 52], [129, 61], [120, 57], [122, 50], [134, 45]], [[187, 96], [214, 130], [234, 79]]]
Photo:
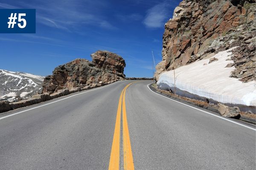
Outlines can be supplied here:
[[222, 116], [231, 117], [231, 118], [240, 118], [240, 110], [238, 107], [229, 107], [218, 103], [218, 111], [221, 113]]

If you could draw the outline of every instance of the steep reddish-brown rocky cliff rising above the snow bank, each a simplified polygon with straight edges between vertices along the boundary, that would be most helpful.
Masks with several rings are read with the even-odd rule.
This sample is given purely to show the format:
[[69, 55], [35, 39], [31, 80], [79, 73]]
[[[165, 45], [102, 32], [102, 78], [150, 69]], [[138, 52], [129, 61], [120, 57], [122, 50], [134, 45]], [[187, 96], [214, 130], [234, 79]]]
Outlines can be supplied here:
[[239, 46], [227, 65], [235, 66], [230, 77], [255, 80], [255, 10], [255, 0], [183, 0], [165, 24], [155, 77]]

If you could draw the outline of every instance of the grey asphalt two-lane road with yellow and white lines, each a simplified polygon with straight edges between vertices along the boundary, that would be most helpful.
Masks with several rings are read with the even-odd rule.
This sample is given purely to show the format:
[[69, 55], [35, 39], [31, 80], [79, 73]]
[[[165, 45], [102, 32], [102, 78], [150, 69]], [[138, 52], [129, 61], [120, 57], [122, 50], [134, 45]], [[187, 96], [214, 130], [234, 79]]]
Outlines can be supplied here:
[[0, 114], [0, 170], [255, 170], [253, 125], [131, 82]]

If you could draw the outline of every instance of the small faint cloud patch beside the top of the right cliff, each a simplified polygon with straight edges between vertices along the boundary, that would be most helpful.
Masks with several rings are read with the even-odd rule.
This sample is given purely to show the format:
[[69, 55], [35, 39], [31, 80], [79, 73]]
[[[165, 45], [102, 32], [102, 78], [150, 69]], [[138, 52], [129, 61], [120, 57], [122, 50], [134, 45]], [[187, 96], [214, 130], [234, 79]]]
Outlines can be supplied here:
[[148, 9], [143, 21], [148, 28], [160, 28], [164, 26], [166, 19], [169, 17], [170, 2], [164, 1]]

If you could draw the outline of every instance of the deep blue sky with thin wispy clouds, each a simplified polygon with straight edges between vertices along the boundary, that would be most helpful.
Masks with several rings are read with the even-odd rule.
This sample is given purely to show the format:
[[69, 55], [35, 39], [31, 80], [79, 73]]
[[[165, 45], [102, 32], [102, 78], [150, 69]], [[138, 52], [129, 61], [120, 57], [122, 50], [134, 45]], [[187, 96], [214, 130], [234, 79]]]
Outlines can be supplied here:
[[1, 0], [35, 8], [36, 34], [0, 34], [0, 69], [46, 76], [76, 58], [108, 50], [125, 59], [126, 77], [152, 77], [164, 24], [181, 0]]

